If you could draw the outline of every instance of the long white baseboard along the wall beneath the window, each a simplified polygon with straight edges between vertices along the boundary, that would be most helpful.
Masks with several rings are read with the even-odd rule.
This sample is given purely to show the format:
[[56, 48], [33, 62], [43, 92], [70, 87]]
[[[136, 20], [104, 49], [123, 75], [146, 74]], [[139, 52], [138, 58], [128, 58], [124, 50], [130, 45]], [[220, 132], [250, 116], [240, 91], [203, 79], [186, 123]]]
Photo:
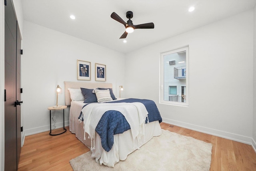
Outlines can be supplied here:
[[172, 120], [172, 119], [162, 118], [162, 120], [163, 120], [164, 123], [168, 123], [168, 124], [171, 124], [171, 125], [176, 125], [176, 126], [184, 127], [184, 128], [191, 129], [191, 130], [194, 130], [194, 131], [207, 133], [207, 134], [214, 135], [214, 136], [217, 136], [217, 137], [222, 137], [222, 138], [230, 139], [230, 140], [233, 140], [233, 141], [238, 141], [240, 143], [245, 143], [245, 144], [252, 145], [252, 138], [251, 137], [246, 137], [246, 136], [243, 136], [243, 135], [237, 135], [237, 134], [234, 134], [234, 133], [220, 131], [220, 130], [217, 130], [217, 129], [211, 129], [211, 128], [207, 128], [207, 127], [193, 125], [193, 124], [190, 124], [190, 123], [175, 121], [175, 120]]

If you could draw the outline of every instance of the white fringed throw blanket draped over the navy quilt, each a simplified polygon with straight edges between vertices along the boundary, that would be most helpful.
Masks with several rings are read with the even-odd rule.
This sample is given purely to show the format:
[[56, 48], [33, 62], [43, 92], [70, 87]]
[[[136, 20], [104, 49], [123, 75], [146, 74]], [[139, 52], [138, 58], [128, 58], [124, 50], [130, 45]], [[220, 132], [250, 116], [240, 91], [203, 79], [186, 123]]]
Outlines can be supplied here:
[[124, 115], [130, 125], [133, 141], [136, 138], [139, 141], [140, 137], [145, 134], [145, 120], [148, 111], [142, 103], [90, 103], [82, 109], [82, 113], [84, 118], [84, 132], [88, 133], [88, 138], [91, 139], [91, 150], [95, 149], [96, 126], [102, 115], [109, 110], [120, 111]]

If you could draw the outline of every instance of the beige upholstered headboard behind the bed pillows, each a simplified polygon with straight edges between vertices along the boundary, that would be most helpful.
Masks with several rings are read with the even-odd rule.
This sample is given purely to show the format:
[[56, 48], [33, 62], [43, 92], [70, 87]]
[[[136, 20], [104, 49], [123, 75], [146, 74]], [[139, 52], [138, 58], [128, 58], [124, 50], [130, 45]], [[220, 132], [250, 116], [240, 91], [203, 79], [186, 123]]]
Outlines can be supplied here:
[[69, 106], [71, 104], [71, 99], [70, 99], [70, 93], [68, 91], [68, 88], [76, 88], [80, 89], [82, 88], [88, 88], [88, 89], [93, 89], [93, 88], [112, 88], [111, 83], [87, 83], [87, 82], [64, 82], [65, 84], [65, 104]]

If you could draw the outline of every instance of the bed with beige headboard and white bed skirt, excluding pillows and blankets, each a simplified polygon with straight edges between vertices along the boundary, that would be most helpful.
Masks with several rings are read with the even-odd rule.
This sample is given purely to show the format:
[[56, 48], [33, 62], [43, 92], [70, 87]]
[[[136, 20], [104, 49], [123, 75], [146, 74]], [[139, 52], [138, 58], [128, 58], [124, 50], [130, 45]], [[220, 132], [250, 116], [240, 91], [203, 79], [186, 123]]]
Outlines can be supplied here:
[[[144, 133], [143, 135], [140, 135], [139, 141], [134, 141], [134, 135], [131, 129], [128, 129], [123, 133], [113, 135], [114, 143], [112, 145], [112, 148], [107, 152], [102, 147], [100, 135], [96, 131], [94, 131], [93, 138], [92, 136], [89, 136], [88, 133], [85, 133], [84, 122], [80, 121], [78, 117], [81, 114], [82, 108], [84, 107], [84, 105], [86, 105], [86, 103], [84, 103], [83, 100], [72, 101], [70, 98], [71, 91], [69, 91], [69, 89], [80, 89], [80, 87], [87, 89], [95, 89], [98, 87], [112, 89], [112, 84], [84, 82], [64, 82], [64, 84], [65, 103], [68, 106], [70, 105], [69, 129], [72, 133], [76, 134], [76, 137], [82, 143], [84, 143], [84, 145], [91, 149], [92, 157], [95, 158], [96, 162], [100, 163], [100, 165], [104, 164], [108, 167], [114, 167], [115, 163], [118, 163], [118, 161], [120, 160], [125, 160], [130, 153], [132, 153], [136, 149], [139, 149], [142, 145], [152, 139], [152, 137], [162, 134], [160, 121], [151, 121], [144, 124]], [[113, 101], [121, 102], [120, 100], [123, 99], [117, 98]], [[106, 103], [102, 103], [102, 105], [103, 104], [108, 105]], [[119, 103], [118, 105], [122, 104], [124, 103]], [[88, 121], [88, 119], [86, 119], [86, 121]]]

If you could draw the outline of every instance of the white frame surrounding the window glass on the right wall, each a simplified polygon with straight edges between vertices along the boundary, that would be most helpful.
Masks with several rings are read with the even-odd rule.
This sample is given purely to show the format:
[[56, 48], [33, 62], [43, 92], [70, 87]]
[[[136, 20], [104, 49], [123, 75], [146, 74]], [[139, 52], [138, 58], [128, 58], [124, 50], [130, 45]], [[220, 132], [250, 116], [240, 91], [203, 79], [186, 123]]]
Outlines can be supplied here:
[[[186, 102], [176, 102], [176, 101], [166, 101], [164, 100], [164, 56], [168, 54], [173, 54], [177, 52], [182, 52], [186, 50]], [[170, 50], [168, 52], [163, 52], [160, 55], [160, 95], [159, 103], [168, 105], [179, 105], [186, 106], [189, 105], [189, 46], [184, 46], [182, 48], [177, 48]]]

